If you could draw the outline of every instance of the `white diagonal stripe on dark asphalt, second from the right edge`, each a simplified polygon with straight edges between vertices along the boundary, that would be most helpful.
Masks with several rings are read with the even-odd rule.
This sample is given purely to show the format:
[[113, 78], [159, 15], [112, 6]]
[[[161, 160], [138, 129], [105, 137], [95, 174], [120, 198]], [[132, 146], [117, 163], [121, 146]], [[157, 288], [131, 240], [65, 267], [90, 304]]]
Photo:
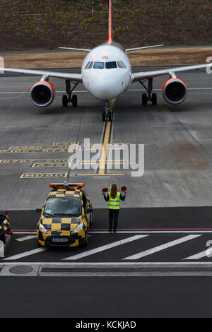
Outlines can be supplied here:
[[167, 242], [165, 244], [161, 244], [160, 246], [139, 252], [139, 254], [126, 257], [125, 259], [141, 259], [142, 257], [154, 254], [155, 252], [176, 246], [179, 243], [187, 242], [190, 239], [195, 239], [196, 237], [201, 237], [201, 235], [187, 235], [187, 237], [181, 237], [180, 239], [175, 239], [174, 241]]

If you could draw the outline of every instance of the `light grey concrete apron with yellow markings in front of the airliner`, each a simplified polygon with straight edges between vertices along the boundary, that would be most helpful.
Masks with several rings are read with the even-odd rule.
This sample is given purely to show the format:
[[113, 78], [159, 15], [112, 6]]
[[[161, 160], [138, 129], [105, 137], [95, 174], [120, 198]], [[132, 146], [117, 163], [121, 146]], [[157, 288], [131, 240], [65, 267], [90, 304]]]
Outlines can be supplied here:
[[[125, 143], [129, 151], [130, 144], [136, 148], [144, 145], [144, 174], [131, 177], [130, 160], [122, 153], [115, 160], [125, 162], [128, 169], [122, 164], [116, 169], [111, 159], [112, 169], [106, 165], [103, 176], [93, 168], [72, 170], [69, 181], [86, 182], [95, 208], [103, 207], [101, 190], [112, 183], [128, 189], [124, 208], [211, 205], [211, 75], [192, 72], [179, 77], [190, 89], [181, 105], [168, 105], [163, 100], [161, 83], [165, 78], [154, 81], [156, 107], [141, 106], [143, 87], [139, 83], [115, 100], [109, 143]], [[104, 137], [101, 102], [83, 85], [78, 85], [76, 92], [78, 107], [63, 108], [64, 82], [52, 80], [57, 85], [55, 100], [41, 109], [29, 100], [28, 86], [35, 81], [35, 76], [1, 77], [1, 210], [32, 210], [42, 205], [49, 182], [63, 182], [69, 171], [64, 164], [70, 153], [62, 144], [79, 143], [83, 147], [84, 138], [102, 143]], [[33, 151], [30, 146], [35, 147]], [[63, 165], [55, 160], [62, 160]], [[85, 177], [87, 173], [93, 175]], [[110, 175], [117, 173], [124, 175]]]

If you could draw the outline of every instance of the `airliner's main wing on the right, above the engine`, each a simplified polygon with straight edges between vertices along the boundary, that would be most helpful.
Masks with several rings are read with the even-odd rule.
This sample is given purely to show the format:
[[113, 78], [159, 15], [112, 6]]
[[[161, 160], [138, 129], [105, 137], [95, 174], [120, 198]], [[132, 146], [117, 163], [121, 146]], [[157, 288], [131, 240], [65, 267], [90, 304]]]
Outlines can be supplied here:
[[163, 75], [172, 75], [173, 73], [177, 73], [178, 71], [192, 71], [194, 69], [198, 70], [201, 68], [207, 68], [211, 67], [212, 64], [197, 64], [194, 66], [182, 66], [182, 67], [175, 67], [175, 68], [169, 68], [169, 69], [160, 69], [156, 71], [139, 71], [138, 73], [132, 73], [132, 83], [137, 81], [143, 81], [148, 78], [154, 78], [157, 76], [163, 76]]

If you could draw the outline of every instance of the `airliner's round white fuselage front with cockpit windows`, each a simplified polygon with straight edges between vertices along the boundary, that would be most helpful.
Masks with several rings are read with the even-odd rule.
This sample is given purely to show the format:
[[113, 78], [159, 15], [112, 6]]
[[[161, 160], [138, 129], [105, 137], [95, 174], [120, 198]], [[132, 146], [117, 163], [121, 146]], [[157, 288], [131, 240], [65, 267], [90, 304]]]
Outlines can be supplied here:
[[129, 88], [131, 63], [117, 43], [100, 45], [85, 57], [81, 68], [83, 85], [100, 100], [111, 100]]

